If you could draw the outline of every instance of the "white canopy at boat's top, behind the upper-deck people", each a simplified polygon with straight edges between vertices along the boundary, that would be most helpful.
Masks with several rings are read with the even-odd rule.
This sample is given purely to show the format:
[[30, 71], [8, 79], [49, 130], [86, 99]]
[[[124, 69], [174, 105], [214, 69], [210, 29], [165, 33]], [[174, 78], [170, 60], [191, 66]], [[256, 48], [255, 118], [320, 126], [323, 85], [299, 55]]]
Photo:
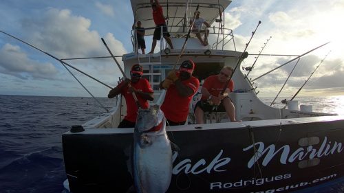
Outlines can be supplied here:
[[[159, 2], [164, 11], [169, 32], [172, 36], [178, 36], [178, 34], [180, 35], [188, 32], [189, 20], [193, 18], [193, 13], [195, 12], [197, 5], [200, 5], [198, 10], [201, 12], [201, 17], [205, 19], [206, 22], [210, 25], [217, 22], [219, 25], [222, 24], [222, 26], [224, 26], [223, 12], [232, 1], [160, 0]], [[146, 35], [152, 35], [155, 24], [153, 21], [150, 1], [131, 0], [131, 8], [136, 21], [141, 21], [141, 26], [146, 28]], [[219, 16], [220, 14], [222, 15], [221, 19]]]

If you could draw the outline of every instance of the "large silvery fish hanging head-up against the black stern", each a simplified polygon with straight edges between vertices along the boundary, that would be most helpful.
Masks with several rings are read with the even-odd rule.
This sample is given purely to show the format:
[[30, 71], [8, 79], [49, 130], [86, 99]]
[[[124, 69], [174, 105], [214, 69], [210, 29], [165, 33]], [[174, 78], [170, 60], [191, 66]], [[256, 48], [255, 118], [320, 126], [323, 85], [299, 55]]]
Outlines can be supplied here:
[[172, 177], [171, 142], [158, 105], [139, 109], [133, 137], [133, 179], [136, 192], [163, 193]]

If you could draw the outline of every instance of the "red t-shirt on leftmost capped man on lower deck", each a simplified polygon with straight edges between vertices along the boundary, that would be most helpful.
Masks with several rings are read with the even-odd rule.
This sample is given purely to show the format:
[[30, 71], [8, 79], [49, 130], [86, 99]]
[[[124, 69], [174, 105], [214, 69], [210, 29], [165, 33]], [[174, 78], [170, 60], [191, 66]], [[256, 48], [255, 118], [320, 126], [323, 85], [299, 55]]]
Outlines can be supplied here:
[[[121, 82], [120, 84], [124, 84]], [[117, 87], [120, 86], [118, 84]], [[149, 84], [148, 80], [145, 78], [140, 78], [138, 82], [133, 83], [131, 82], [131, 87], [135, 88], [138, 91], [142, 91], [144, 93], [153, 93], [153, 89], [151, 89], [151, 85]], [[127, 104], [127, 115], [125, 116], [125, 120], [129, 122], [136, 122], [136, 117], [138, 115], [138, 106], [136, 105], [135, 100], [133, 99], [133, 94], [128, 91], [129, 87], [125, 87], [122, 89], [121, 94], [125, 97], [125, 103]], [[140, 95], [136, 95], [138, 98], [138, 102], [142, 109], [148, 109], [148, 101], [141, 98]]]

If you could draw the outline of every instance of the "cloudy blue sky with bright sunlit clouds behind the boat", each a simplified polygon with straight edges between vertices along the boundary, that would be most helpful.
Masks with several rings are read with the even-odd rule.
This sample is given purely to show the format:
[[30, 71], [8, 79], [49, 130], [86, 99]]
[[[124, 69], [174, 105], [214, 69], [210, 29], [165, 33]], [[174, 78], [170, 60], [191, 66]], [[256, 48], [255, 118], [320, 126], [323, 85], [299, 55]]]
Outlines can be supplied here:
[[[56, 58], [108, 56], [100, 38], [105, 38], [114, 55], [132, 51], [130, 30], [133, 15], [129, 0], [3, 0], [0, 3], [0, 30], [21, 38]], [[240, 0], [226, 9], [226, 27], [233, 29], [237, 49], [244, 50], [258, 21], [261, 25], [242, 63], [249, 67], [261, 47], [261, 54], [304, 56], [290, 76], [281, 96], [296, 93], [316, 66], [319, 69], [299, 95], [344, 95], [343, 27], [344, 0]], [[150, 49], [146, 38], [147, 49]], [[260, 56], [249, 78], [292, 60], [295, 56]], [[120, 60], [120, 59], [119, 59]], [[116, 86], [120, 71], [112, 60], [66, 60], [90, 76]], [[292, 62], [255, 80], [259, 96], [274, 97], [290, 71]], [[241, 69], [242, 70], [242, 69]], [[104, 97], [109, 89], [86, 76], [71, 71], [94, 95]], [[242, 70], [244, 73], [247, 71]], [[57, 60], [0, 33], [0, 94], [88, 96]]]

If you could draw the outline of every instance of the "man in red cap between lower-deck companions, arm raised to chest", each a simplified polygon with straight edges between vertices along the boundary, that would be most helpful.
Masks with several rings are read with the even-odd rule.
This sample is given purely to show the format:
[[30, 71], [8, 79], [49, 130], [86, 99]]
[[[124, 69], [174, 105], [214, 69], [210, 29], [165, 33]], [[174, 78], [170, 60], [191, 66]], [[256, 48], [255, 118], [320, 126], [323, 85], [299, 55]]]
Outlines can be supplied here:
[[170, 71], [167, 78], [160, 82], [160, 89], [166, 89], [161, 110], [169, 125], [185, 124], [189, 115], [189, 104], [200, 87], [200, 81], [192, 76], [195, 63], [185, 60], [179, 71]]

